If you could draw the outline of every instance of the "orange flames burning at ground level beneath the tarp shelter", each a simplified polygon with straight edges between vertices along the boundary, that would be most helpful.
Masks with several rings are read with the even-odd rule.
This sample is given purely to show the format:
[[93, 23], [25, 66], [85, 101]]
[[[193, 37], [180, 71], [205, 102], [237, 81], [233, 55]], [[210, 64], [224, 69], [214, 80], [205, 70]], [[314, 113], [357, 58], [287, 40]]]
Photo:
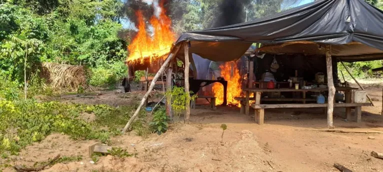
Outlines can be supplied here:
[[[219, 66], [221, 69], [220, 75], [227, 81], [227, 104], [240, 107], [239, 101], [235, 97], [240, 97], [242, 93], [239, 70], [234, 62], [226, 62]], [[215, 104], [223, 103], [223, 86], [220, 83], [214, 83], [212, 87], [214, 96], [216, 97]]]

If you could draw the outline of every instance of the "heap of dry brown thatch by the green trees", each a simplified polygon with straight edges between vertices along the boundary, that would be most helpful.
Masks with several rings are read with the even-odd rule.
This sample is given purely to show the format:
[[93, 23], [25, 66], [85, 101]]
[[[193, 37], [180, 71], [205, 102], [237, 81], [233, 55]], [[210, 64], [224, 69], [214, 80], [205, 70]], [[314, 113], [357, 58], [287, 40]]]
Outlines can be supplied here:
[[53, 90], [76, 91], [79, 86], [87, 89], [84, 66], [43, 63], [43, 73]]

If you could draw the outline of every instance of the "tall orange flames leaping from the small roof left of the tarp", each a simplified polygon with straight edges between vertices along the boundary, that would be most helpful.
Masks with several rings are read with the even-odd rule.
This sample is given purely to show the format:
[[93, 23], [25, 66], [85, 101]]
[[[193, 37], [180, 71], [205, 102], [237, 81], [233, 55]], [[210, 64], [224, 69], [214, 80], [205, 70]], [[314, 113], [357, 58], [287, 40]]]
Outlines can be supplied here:
[[151, 16], [150, 25], [153, 27], [154, 35], [150, 36], [146, 31], [145, 21], [140, 10], [135, 12], [138, 22], [137, 35], [133, 38], [127, 49], [129, 57], [127, 61], [144, 58], [159, 58], [170, 51], [171, 44], [175, 39], [175, 34], [171, 31], [171, 20], [166, 15], [166, 10], [163, 8], [162, 1], [159, 3], [161, 12], [158, 17]]

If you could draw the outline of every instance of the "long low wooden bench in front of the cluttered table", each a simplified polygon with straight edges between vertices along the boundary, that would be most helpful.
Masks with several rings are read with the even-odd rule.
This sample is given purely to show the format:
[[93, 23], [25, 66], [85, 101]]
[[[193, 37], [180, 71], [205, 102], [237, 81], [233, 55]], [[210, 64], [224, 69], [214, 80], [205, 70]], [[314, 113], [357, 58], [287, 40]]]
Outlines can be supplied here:
[[[362, 106], [371, 106], [371, 103], [334, 103], [334, 107], [355, 107], [355, 118], [356, 122], [361, 122], [361, 107]], [[326, 104], [253, 104], [251, 107], [255, 111], [255, 120], [257, 124], [262, 125], [264, 120], [264, 109], [275, 109], [275, 108], [325, 108]], [[351, 112], [346, 111], [346, 118], [348, 121], [351, 121]]]

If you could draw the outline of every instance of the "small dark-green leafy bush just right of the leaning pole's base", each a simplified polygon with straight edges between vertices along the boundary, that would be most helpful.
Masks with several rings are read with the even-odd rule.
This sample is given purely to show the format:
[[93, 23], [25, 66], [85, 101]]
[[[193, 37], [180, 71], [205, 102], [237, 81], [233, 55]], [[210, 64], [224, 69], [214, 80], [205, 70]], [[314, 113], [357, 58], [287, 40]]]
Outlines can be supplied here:
[[158, 109], [154, 112], [153, 120], [149, 125], [152, 128], [152, 131], [158, 135], [167, 131], [167, 116], [164, 108]]

